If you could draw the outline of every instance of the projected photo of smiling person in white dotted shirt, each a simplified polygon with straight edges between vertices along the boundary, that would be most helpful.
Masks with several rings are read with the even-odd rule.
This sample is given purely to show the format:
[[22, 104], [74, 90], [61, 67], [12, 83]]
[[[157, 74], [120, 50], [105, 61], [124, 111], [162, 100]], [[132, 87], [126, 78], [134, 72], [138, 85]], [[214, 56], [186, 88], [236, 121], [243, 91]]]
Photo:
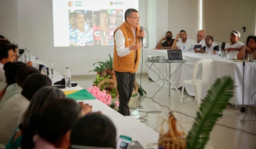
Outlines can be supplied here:
[[[72, 12], [72, 11], [71, 11]], [[92, 14], [92, 11], [86, 10], [75, 10], [76, 12], [76, 28], [70, 28], [70, 46], [86, 46], [93, 45], [93, 34], [92, 27], [89, 27], [88, 23], [85, 23], [85, 12], [88, 19], [92, 19], [89, 17]], [[72, 14], [70, 13], [70, 16]], [[71, 18], [70, 22], [71, 22]]]

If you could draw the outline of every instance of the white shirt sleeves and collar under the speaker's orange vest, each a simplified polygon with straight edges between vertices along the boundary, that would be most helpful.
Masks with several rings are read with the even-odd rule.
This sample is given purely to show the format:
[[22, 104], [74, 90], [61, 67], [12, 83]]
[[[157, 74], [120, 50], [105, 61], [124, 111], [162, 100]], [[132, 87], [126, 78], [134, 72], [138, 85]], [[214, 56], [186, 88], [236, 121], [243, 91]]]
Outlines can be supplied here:
[[[136, 28], [135, 29], [131, 29], [132, 30], [132, 33], [134, 34], [134, 41], [136, 41]], [[115, 32], [115, 36], [114, 36], [114, 40], [115, 40], [115, 45], [116, 45], [116, 48], [117, 48], [117, 55], [119, 57], [124, 57], [125, 55], [128, 55], [131, 50], [129, 49], [129, 47], [126, 47], [125, 48], [125, 37], [124, 37], [124, 34], [122, 33], [122, 30], [118, 29], [116, 32]], [[141, 39], [139, 40], [140, 43], [141, 43]], [[143, 45], [145, 45], [145, 38], [143, 38]], [[136, 43], [134, 43], [136, 44]]]

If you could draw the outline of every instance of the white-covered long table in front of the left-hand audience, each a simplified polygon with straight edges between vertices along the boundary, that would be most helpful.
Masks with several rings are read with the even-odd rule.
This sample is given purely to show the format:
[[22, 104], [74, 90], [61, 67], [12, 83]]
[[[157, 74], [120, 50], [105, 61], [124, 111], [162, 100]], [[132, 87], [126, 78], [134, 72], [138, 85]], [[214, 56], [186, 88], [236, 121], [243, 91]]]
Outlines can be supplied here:
[[[63, 78], [59, 73], [54, 73], [52, 82], [59, 81]], [[72, 90], [82, 90], [82, 88], [78, 85], [76, 87], [61, 89], [63, 91], [72, 91]], [[105, 105], [103, 102], [98, 99], [90, 99], [90, 100], [81, 100], [84, 103], [89, 103], [93, 106], [92, 111], [97, 112], [101, 111], [102, 114], [109, 117], [115, 125], [117, 129], [117, 139], [120, 135], [125, 135], [131, 137], [133, 141], [138, 141], [141, 143], [143, 148], [148, 148], [147, 144], [149, 143], [157, 143], [159, 139], [159, 134], [153, 131], [151, 128], [147, 127], [145, 124], [136, 120], [133, 116], [123, 116], [120, 113], [116, 112], [114, 109]], [[77, 101], [80, 102], [80, 101]], [[157, 149], [157, 144], [150, 147]]]

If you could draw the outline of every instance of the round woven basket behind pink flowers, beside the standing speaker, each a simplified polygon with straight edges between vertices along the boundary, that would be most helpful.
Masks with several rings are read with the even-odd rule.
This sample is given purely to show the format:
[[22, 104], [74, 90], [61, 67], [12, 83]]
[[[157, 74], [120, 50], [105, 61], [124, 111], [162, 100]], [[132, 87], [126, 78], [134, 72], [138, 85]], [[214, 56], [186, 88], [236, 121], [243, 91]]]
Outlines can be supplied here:
[[100, 81], [100, 83], [97, 85], [98, 88], [103, 88], [103, 90], [106, 90], [107, 92], [108, 91], [112, 91], [115, 87], [115, 93], [116, 93], [116, 97], [115, 98], [118, 98], [119, 97], [119, 94], [118, 94], [118, 90], [117, 90], [117, 81], [113, 80], [113, 79], [104, 79], [102, 81]]

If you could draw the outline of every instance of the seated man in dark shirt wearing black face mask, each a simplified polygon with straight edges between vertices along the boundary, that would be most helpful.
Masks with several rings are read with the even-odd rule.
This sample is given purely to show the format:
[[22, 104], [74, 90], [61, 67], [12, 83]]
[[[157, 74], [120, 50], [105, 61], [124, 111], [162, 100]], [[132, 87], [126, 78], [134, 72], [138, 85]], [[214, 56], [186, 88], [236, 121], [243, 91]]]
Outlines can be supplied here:
[[[172, 39], [173, 33], [168, 31], [166, 32], [166, 36], [163, 37], [159, 43], [157, 43], [156, 48], [158, 49], [171, 49], [171, 46], [173, 45], [174, 39]], [[163, 40], [166, 40], [163, 42]], [[163, 42], [163, 43], [162, 43]]]

